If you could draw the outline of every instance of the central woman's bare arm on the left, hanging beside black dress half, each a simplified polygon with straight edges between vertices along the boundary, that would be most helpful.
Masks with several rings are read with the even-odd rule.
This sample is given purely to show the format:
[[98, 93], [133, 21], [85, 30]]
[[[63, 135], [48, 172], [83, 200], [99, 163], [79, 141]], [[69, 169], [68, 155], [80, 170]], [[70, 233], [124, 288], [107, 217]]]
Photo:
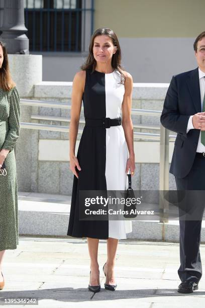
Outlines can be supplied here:
[[73, 79], [72, 97], [71, 97], [71, 119], [69, 127], [69, 140], [70, 140], [70, 170], [78, 178], [75, 167], [80, 171], [81, 168], [78, 160], [75, 157], [75, 144], [77, 139], [77, 132], [79, 126], [80, 110], [82, 104], [82, 95], [85, 85], [85, 71], [77, 72]]

